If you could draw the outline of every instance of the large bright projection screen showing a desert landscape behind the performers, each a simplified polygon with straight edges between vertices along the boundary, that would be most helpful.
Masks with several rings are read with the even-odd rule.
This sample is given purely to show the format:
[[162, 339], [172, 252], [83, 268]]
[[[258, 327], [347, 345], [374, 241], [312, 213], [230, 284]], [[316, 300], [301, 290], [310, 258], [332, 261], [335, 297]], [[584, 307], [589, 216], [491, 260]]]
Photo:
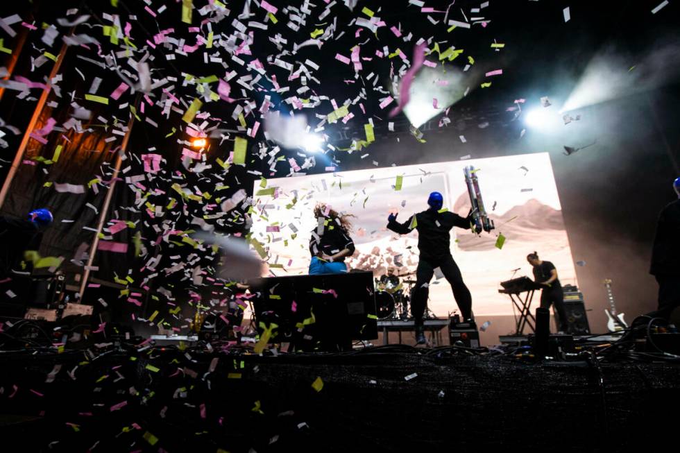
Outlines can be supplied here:
[[[390, 266], [399, 274], [414, 273], [418, 232], [399, 236], [387, 230], [387, 216], [398, 212], [398, 221], [407, 221], [427, 208], [431, 191], [443, 194], [444, 207], [466, 216], [470, 200], [463, 169], [468, 165], [479, 169], [486, 210], [496, 225], [491, 233], [480, 235], [458, 228], [451, 231], [451, 253], [472, 293], [475, 316], [513, 314], [508, 296], [498, 293], [499, 283], [513, 275], [532, 277], [526, 256], [534, 250], [554, 263], [562, 284], [577, 284], [547, 153], [276, 178], [266, 183], [267, 188], [277, 188], [273, 196], [257, 196], [262, 186], [256, 182], [251, 232], [274, 264], [266, 275], [307, 274], [316, 203], [355, 216], [351, 236], [357, 250], [346, 261], [348, 268], [370, 270], [375, 277]], [[401, 190], [395, 190], [397, 176], [403, 178]], [[502, 249], [495, 247], [498, 233], [507, 238]], [[516, 268], [520, 269], [513, 273]], [[448, 282], [439, 273], [430, 284], [428, 307], [442, 318], [459, 312]]]

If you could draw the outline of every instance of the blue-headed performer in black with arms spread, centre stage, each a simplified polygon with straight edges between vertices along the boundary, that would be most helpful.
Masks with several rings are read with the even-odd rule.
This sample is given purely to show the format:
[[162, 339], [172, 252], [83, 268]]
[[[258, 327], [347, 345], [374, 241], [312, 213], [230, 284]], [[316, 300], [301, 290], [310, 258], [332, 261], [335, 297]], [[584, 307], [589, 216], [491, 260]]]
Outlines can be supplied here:
[[387, 228], [398, 234], [408, 234], [418, 230], [418, 268], [416, 269], [416, 287], [411, 298], [411, 315], [416, 327], [416, 343], [425, 343], [423, 330], [423, 313], [427, 305], [428, 288], [434, 269], [440, 268], [453, 290], [453, 297], [465, 320], [472, 320], [472, 296], [463, 282], [463, 276], [451, 256], [450, 230], [453, 227], [470, 228], [470, 216], [461, 217], [453, 212], [442, 210], [443, 197], [439, 192], [432, 192], [427, 200], [430, 208], [414, 214], [405, 223], [398, 223], [397, 214], [390, 214]]

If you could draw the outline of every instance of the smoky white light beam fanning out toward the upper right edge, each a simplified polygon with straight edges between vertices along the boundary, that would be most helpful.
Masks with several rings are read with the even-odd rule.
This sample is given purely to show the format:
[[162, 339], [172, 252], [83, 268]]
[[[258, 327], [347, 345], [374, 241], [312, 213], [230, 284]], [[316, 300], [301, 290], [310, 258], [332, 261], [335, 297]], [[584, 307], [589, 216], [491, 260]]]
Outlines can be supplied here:
[[657, 40], [651, 49], [627, 55], [606, 46], [588, 63], [561, 112], [645, 92], [677, 82], [680, 37]]

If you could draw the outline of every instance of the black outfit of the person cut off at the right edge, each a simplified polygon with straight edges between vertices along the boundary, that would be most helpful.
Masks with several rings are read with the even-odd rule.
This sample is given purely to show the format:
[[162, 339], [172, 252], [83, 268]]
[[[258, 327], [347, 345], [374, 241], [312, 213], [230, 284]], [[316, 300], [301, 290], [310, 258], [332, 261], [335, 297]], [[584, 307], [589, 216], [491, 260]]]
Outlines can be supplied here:
[[649, 273], [658, 282], [658, 307], [647, 315], [668, 320], [680, 307], [680, 199], [658, 216]]

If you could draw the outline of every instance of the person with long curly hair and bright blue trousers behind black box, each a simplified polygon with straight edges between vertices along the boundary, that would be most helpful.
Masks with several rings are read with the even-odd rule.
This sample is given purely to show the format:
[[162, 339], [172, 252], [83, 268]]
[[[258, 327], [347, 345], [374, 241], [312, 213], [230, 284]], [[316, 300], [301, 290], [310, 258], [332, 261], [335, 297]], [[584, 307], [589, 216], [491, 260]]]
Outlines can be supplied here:
[[345, 257], [352, 256], [355, 251], [354, 241], [350, 237], [352, 223], [351, 214], [339, 214], [326, 205], [314, 208], [317, 228], [312, 230], [309, 239], [309, 275], [346, 273]]

